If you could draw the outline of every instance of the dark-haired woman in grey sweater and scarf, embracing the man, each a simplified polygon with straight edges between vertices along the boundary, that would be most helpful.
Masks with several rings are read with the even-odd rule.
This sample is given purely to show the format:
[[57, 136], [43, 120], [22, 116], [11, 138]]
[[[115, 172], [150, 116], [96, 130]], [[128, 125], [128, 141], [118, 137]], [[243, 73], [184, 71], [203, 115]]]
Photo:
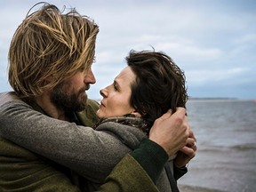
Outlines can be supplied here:
[[[97, 115], [103, 119], [97, 130], [109, 134], [109, 140], [110, 138], [113, 140], [113, 147], [115, 147], [113, 150], [118, 150], [120, 154], [129, 153], [133, 148], [137, 148], [140, 141], [147, 136], [148, 127], [151, 127], [157, 117], [163, 115], [169, 108], [175, 111], [177, 107], [185, 107], [188, 98], [183, 72], [164, 53], [130, 52], [126, 59], [128, 67], [116, 76], [113, 84], [100, 91], [103, 100], [101, 100], [100, 109], [97, 112]], [[33, 118], [34, 121], [36, 118], [32, 114], [37, 117], [41, 116], [41, 120], [43, 119], [42, 115], [36, 111], [30, 111], [29, 118], [32, 123]], [[53, 124], [58, 120], [44, 117], [44, 121], [51, 121]], [[59, 122], [59, 124], [61, 123]], [[38, 132], [40, 129], [40, 127], [36, 127], [36, 124], [32, 128], [29, 126], [27, 128], [30, 129], [27, 130], [28, 132], [32, 132], [32, 130]], [[100, 156], [97, 148], [84, 148], [83, 143], [80, 142], [80, 138], [83, 137], [81, 135], [83, 127], [77, 129], [77, 126], [73, 124], [68, 127], [68, 130], [60, 127], [60, 131], [54, 127], [52, 128], [52, 132], [56, 132], [53, 134], [54, 138], [51, 138], [52, 134], [48, 134], [50, 130], [44, 129], [42, 132], [38, 132], [33, 140], [29, 138], [26, 129], [24, 127], [20, 132], [17, 130], [16, 135], [12, 135], [12, 140], [82, 174], [87, 180], [90, 180], [86, 185], [87, 190], [88, 188], [94, 190], [95, 186], [97, 188], [119, 161], [119, 158], [116, 159], [111, 151], [108, 151], [108, 156]], [[76, 135], [74, 136], [76, 140], [71, 140], [72, 135]], [[10, 138], [10, 135], [4, 136]], [[58, 139], [59, 136], [61, 140]], [[69, 140], [74, 147], [72, 151], [68, 151], [67, 142]], [[52, 143], [54, 144], [52, 145]], [[191, 145], [191, 148], [196, 151], [196, 146], [192, 147]], [[84, 158], [83, 155], [88, 150], [95, 151], [95, 156]], [[177, 158], [174, 164], [180, 167]], [[172, 161], [169, 165], [172, 167]], [[156, 181], [156, 186], [160, 191], [171, 191], [166, 172], [168, 171], [163, 170], [161, 177]], [[185, 172], [177, 171], [175, 168], [174, 178], [179, 179]]]

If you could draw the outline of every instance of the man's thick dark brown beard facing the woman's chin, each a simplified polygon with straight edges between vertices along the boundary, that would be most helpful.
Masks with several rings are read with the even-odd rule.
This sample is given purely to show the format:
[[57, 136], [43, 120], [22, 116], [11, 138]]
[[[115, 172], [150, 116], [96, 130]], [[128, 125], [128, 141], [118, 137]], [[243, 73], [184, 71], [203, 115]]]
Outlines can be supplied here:
[[57, 108], [60, 108], [65, 112], [77, 112], [84, 110], [84, 108], [86, 108], [87, 95], [85, 93], [85, 95], [80, 96], [80, 94], [89, 89], [89, 87], [81, 88], [79, 91], [72, 92], [68, 95], [68, 86], [69, 84], [62, 83], [52, 89], [50, 96], [52, 103]]

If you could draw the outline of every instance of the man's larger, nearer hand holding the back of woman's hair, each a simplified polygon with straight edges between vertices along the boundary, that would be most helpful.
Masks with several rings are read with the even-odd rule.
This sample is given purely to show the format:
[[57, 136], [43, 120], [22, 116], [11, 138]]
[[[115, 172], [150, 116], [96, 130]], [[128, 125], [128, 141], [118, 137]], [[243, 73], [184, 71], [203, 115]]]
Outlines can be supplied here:
[[186, 109], [177, 108], [174, 114], [169, 110], [156, 119], [149, 132], [149, 140], [164, 148], [168, 156], [173, 156], [187, 145], [189, 132]]

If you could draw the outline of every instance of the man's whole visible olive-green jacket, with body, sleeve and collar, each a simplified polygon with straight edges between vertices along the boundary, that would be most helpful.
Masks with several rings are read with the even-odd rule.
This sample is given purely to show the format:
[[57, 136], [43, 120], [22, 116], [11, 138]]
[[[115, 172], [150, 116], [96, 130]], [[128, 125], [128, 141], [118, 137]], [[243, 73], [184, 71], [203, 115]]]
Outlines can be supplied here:
[[[0, 97], [0, 108], [6, 102], [2, 96]], [[90, 108], [98, 108], [95, 104], [89, 103]], [[0, 128], [2, 112], [0, 111]], [[98, 121], [97, 118], [94, 118], [95, 116], [86, 116], [88, 114], [92, 113], [83, 112], [78, 115], [83, 124], [91, 125]], [[90, 119], [92, 121], [88, 121]], [[20, 148], [11, 141], [0, 138], [0, 191], [80, 191], [69, 180], [71, 178], [72, 172], [67, 168], [45, 160], [44, 157], [37, 156], [25, 148]], [[116, 165], [99, 191], [158, 190], [140, 164], [132, 156], [127, 155]]]

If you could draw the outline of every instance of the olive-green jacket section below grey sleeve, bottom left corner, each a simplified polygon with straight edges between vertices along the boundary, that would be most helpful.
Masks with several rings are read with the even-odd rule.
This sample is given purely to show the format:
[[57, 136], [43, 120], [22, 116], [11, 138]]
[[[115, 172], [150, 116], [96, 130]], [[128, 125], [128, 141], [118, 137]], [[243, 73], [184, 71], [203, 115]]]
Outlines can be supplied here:
[[58, 168], [27, 149], [0, 138], [0, 191], [80, 190]]

